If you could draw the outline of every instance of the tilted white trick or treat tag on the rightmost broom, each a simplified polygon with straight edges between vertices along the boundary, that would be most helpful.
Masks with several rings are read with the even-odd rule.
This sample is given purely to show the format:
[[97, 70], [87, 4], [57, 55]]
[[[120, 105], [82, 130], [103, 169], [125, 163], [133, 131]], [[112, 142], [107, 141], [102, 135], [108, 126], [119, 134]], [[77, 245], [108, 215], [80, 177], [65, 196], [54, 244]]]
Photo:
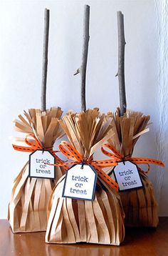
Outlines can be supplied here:
[[120, 191], [142, 187], [142, 181], [136, 164], [130, 161], [119, 162], [118, 165], [113, 168], [113, 172]]

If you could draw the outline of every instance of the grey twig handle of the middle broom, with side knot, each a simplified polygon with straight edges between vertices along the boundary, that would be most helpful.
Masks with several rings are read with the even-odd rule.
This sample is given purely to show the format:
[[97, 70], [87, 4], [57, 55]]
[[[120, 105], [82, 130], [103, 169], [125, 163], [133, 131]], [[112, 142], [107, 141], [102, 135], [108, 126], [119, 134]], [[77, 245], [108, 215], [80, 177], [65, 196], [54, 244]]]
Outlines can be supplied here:
[[77, 72], [74, 74], [79, 74], [81, 77], [81, 111], [86, 110], [85, 103], [85, 76], [86, 67], [88, 61], [88, 44], [89, 44], [89, 20], [90, 20], [90, 6], [84, 6], [84, 19], [83, 19], [83, 51], [82, 51], [82, 64]]

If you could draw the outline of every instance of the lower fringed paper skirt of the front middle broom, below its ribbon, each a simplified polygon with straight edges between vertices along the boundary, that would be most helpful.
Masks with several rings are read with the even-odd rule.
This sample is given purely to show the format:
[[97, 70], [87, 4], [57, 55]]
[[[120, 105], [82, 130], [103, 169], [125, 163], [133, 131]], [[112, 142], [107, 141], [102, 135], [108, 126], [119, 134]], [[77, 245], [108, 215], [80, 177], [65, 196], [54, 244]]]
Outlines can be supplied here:
[[65, 198], [64, 181], [65, 176], [58, 181], [49, 203], [46, 242], [120, 245], [125, 237], [120, 196], [98, 182], [93, 201]]

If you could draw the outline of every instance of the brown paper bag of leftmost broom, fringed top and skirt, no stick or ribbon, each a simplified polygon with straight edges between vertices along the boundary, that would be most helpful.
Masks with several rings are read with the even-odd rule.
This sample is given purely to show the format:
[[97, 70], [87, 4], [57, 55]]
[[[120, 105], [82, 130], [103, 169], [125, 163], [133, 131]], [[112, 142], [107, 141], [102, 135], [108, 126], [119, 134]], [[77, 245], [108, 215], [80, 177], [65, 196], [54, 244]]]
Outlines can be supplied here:
[[[19, 115], [19, 119], [14, 121], [16, 131], [33, 134], [44, 149], [52, 148], [56, 139], [63, 135], [63, 129], [58, 123], [62, 114], [60, 108], [53, 107], [46, 112], [29, 109], [24, 114], [25, 117]], [[24, 139], [16, 138], [16, 144], [23, 141]], [[31, 178], [28, 177], [26, 162], [14, 180], [9, 202], [8, 219], [13, 232], [46, 230], [48, 200], [53, 187], [63, 174], [63, 167], [56, 167], [56, 179]]]

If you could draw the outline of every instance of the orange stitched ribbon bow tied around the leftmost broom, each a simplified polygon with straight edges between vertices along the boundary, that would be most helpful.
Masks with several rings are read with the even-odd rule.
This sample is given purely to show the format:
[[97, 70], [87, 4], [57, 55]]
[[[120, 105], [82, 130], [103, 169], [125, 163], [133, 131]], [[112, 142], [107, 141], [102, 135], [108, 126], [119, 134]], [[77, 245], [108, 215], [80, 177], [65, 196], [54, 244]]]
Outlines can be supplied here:
[[[28, 140], [28, 137], [32, 137], [33, 139]], [[39, 150], [39, 149], [48, 150], [49, 152], [51, 152], [51, 154], [53, 154], [53, 157], [56, 158], [56, 161], [59, 164], [63, 164], [63, 161], [58, 156], [56, 156], [56, 154], [55, 154], [56, 151], [53, 150], [53, 147], [44, 148], [43, 145], [41, 144], [41, 142], [38, 141], [38, 139], [36, 138], [36, 136], [34, 134], [26, 135], [26, 138], [24, 139], [24, 142], [26, 142], [26, 144], [29, 147], [18, 146], [18, 145], [15, 145], [15, 144], [12, 144], [12, 146], [14, 147], [15, 150], [18, 150], [18, 151], [21, 151], [21, 152], [34, 152], [34, 151]], [[65, 168], [65, 169], [67, 169], [67, 168]]]

